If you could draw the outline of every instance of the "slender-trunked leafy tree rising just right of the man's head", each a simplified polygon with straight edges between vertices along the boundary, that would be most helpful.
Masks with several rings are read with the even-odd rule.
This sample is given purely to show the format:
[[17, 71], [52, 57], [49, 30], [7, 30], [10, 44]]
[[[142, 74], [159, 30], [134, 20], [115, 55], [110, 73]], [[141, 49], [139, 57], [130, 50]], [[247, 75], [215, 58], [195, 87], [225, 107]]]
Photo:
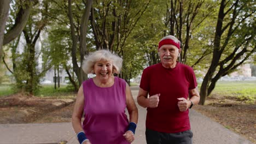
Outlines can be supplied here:
[[183, 0], [171, 0], [170, 8], [167, 5], [165, 25], [168, 26], [170, 23], [169, 34], [176, 36], [181, 41], [181, 63], [187, 63], [191, 36], [202, 25], [203, 21], [213, 13], [212, 5], [211, 1], [206, 2], [205, 0], [185, 2]]

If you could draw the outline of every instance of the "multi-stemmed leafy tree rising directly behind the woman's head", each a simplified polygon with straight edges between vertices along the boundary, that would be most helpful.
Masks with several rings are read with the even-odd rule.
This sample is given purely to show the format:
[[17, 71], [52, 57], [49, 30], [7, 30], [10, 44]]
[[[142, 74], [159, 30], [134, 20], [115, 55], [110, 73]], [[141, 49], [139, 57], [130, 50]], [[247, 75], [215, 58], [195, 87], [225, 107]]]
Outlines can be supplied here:
[[[95, 38], [96, 50], [107, 49], [124, 59], [123, 70], [119, 75], [130, 84], [130, 79], [138, 74], [136, 48], [131, 47], [132, 32], [150, 1], [96, 1], [91, 9], [91, 28]], [[127, 41], [130, 43], [127, 44]], [[127, 48], [129, 47], [129, 48]], [[135, 52], [134, 52], [135, 51]], [[140, 68], [141, 69], [141, 68]]]

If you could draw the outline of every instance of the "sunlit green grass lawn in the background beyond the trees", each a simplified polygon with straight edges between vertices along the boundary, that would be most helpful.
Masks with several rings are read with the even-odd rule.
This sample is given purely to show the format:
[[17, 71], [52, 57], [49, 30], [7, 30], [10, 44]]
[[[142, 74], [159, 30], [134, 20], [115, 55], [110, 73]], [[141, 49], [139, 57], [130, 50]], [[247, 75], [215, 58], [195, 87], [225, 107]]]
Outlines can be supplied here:
[[[199, 88], [201, 83], [199, 83]], [[54, 89], [54, 85], [42, 85], [37, 97], [67, 97], [74, 96], [71, 86], [61, 85]], [[11, 85], [0, 85], [0, 97], [14, 94]], [[212, 94], [224, 95], [225, 97], [253, 97], [256, 99], [256, 81], [219, 81]]]

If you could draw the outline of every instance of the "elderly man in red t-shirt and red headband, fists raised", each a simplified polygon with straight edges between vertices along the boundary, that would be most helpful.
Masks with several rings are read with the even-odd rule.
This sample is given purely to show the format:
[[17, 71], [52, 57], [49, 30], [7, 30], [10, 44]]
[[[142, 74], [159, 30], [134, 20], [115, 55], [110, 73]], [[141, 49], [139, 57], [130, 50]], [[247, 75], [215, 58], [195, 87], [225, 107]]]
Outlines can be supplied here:
[[180, 45], [173, 35], [162, 38], [161, 62], [143, 70], [137, 101], [147, 107], [148, 144], [192, 143], [188, 109], [199, 103], [200, 96], [193, 69], [177, 62]]

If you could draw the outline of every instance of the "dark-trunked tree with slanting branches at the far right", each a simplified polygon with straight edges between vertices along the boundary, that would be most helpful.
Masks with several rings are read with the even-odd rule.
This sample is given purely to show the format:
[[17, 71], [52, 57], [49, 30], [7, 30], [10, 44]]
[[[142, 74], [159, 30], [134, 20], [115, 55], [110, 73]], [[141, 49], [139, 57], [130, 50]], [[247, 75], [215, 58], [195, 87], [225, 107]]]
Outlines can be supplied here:
[[235, 71], [256, 52], [254, 14], [252, 1], [220, 2], [212, 61], [200, 89], [200, 104], [205, 104], [220, 77]]

